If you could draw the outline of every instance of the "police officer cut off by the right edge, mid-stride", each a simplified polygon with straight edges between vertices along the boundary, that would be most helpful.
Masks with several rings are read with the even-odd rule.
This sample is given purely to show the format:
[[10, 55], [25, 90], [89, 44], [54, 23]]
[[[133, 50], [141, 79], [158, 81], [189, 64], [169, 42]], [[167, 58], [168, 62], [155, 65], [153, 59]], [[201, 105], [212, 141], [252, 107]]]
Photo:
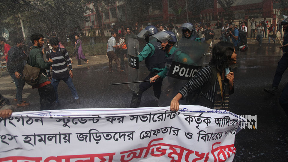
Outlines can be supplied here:
[[[271, 89], [264, 88], [265, 92], [271, 93], [272, 95], [276, 95], [282, 75], [288, 67], [288, 17], [286, 19], [283, 19], [281, 25], [283, 26], [283, 29], [285, 31], [283, 35], [283, 46], [280, 46], [284, 54], [280, 59], [280, 61], [278, 62], [278, 66], [272, 83], [272, 88]], [[288, 115], [288, 83], [283, 89], [279, 103], [281, 107], [285, 110], [286, 114]]]

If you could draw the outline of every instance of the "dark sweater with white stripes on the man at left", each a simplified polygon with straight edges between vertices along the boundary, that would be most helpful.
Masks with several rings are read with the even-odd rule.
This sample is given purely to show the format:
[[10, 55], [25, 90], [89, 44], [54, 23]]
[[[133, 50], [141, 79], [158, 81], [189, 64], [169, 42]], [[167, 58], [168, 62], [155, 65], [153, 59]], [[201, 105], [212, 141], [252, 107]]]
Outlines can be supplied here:
[[[56, 52], [50, 49], [46, 55], [47, 60], [51, 58], [52, 62], [52, 78], [53, 79], [66, 79], [69, 77], [69, 70], [72, 69], [71, 60], [65, 48], [58, 48]], [[69, 70], [67, 68], [69, 65]], [[47, 70], [48, 77], [50, 77], [50, 70]]]

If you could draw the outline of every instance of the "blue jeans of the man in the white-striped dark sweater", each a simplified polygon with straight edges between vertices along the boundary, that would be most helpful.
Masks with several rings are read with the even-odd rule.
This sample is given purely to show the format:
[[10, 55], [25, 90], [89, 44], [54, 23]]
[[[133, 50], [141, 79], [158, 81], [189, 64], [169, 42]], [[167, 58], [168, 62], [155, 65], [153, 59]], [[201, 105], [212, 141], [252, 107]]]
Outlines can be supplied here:
[[[70, 76], [66, 79], [60, 79], [60, 80], [63, 80], [68, 85], [68, 88], [70, 88], [70, 90], [72, 92], [73, 98], [78, 99], [79, 96], [77, 94], [76, 88], [75, 88]], [[52, 78], [52, 82], [51, 82], [51, 84], [53, 85], [54, 91], [55, 91], [55, 95], [56, 95], [55, 103], [59, 102], [59, 100], [58, 100], [58, 84], [59, 84], [60, 80]]]

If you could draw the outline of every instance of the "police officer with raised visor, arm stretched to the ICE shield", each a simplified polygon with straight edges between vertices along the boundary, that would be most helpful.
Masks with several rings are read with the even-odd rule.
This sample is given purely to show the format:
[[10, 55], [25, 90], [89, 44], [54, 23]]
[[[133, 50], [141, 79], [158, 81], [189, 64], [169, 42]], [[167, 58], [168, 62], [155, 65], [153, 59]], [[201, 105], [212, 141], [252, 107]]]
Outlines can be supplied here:
[[[145, 59], [145, 65], [150, 71], [149, 75], [145, 78], [145, 80], [150, 79], [165, 68], [166, 56], [165, 52], [161, 50], [161, 43], [157, 41], [149, 41], [149, 37], [156, 33], [158, 33], [158, 29], [155, 26], [147, 26], [137, 35], [137, 37], [144, 38], [147, 42], [142, 52], [140, 52], [140, 54], [138, 55], [139, 62]], [[142, 93], [148, 88], [150, 88], [152, 85], [155, 97], [159, 98], [161, 94], [162, 81], [162, 79], [159, 79], [157, 82], [153, 83], [142, 82], [139, 85], [138, 93], [133, 91], [133, 97], [130, 107], [139, 107]]]

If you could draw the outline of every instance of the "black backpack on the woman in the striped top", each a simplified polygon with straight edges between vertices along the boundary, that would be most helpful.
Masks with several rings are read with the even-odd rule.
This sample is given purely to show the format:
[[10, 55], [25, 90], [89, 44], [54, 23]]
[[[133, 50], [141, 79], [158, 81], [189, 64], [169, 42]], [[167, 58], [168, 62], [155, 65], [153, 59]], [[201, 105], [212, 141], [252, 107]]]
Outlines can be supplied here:
[[196, 91], [193, 91], [191, 94], [187, 96], [186, 98], [187, 104], [214, 107], [214, 103], [209, 101], [204, 96], [204, 94], [207, 93], [212, 88], [217, 78], [216, 67], [211, 66], [211, 71], [212, 72], [210, 79], [208, 80], [206, 85], [202, 86], [201, 88], [198, 88]]

